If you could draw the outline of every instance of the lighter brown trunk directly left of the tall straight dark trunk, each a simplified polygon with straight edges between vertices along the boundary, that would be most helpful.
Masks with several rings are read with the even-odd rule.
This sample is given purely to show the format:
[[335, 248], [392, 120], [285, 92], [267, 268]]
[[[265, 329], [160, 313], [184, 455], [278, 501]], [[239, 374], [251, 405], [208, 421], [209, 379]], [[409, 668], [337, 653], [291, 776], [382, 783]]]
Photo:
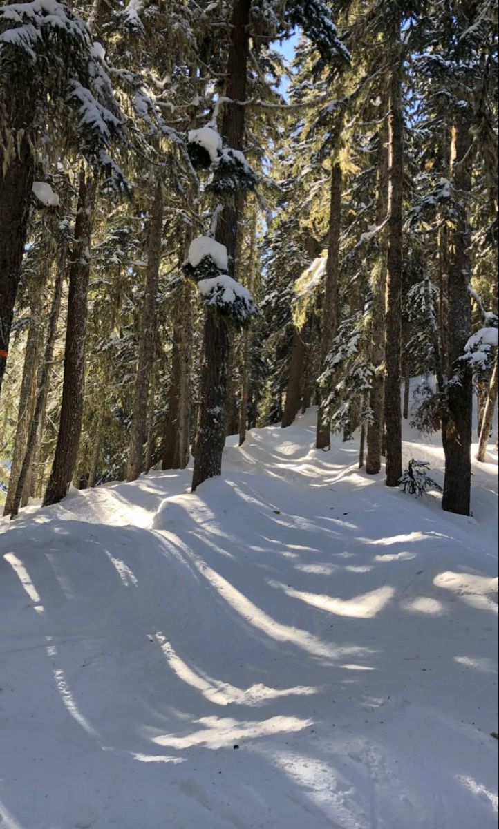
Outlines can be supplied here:
[[[378, 193], [376, 221], [381, 225], [388, 210], [388, 128], [384, 122], [380, 129], [378, 154]], [[371, 423], [367, 427], [366, 473], [377, 475], [381, 469], [383, 431], [385, 429], [385, 293], [386, 293], [386, 245], [385, 235], [380, 238], [380, 253], [371, 274], [371, 363], [375, 374], [371, 381], [369, 406]]]

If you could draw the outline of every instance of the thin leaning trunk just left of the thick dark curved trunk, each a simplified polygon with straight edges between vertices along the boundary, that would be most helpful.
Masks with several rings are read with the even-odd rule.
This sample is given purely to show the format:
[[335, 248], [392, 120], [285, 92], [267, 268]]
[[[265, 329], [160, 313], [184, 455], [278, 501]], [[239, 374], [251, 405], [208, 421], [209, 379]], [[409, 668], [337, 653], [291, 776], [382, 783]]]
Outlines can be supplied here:
[[41, 362], [40, 371], [38, 372], [38, 381], [36, 385], [36, 403], [33, 417], [31, 419], [30, 431], [27, 437], [27, 446], [22, 461], [21, 472], [17, 480], [16, 491], [12, 501], [11, 518], [15, 518], [19, 511], [19, 506], [22, 499], [22, 491], [29, 473], [31, 458], [33, 457], [36, 446], [36, 435], [41, 424], [42, 413], [46, 405], [47, 386], [51, 371], [51, 362], [54, 354], [54, 347], [56, 345], [57, 322], [61, 310], [62, 297], [62, 283], [65, 271], [65, 246], [61, 251], [61, 261], [56, 272], [56, 284], [54, 287], [54, 296], [52, 298], [51, 313], [46, 333], [46, 344], [43, 361]]

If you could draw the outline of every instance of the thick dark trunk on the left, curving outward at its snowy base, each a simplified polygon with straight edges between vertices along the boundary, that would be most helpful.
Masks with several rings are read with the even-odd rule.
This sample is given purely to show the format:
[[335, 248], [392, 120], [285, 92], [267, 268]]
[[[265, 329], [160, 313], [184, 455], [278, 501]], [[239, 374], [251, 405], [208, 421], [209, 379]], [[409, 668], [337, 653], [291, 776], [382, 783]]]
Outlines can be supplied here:
[[80, 172], [75, 221], [75, 243], [68, 266], [69, 296], [65, 335], [61, 420], [51, 476], [43, 506], [65, 497], [75, 472], [85, 399], [85, 345], [87, 294], [90, 279], [90, 241], [96, 185], [90, 173]]

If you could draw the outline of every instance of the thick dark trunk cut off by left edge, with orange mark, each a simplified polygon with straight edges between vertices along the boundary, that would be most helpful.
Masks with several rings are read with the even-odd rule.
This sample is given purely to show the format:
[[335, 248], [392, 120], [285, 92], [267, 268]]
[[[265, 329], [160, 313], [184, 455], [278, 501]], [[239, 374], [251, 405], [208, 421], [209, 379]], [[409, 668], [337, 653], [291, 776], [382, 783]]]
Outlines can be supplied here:
[[[7, 164], [5, 171], [2, 169], [3, 154], [0, 152], [0, 392], [26, 242], [34, 171], [34, 159], [24, 119], [20, 120], [17, 128], [25, 130], [19, 154]], [[1, 144], [0, 140], [0, 147]]]

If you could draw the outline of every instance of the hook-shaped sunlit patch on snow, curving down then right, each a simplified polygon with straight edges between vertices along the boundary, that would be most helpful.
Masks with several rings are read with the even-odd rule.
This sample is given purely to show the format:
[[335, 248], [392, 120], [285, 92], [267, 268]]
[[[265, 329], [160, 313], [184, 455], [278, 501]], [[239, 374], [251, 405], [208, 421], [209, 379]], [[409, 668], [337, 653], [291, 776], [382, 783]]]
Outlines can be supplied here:
[[201, 694], [207, 700], [214, 702], [216, 705], [230, 705], [231, 703], [236, 705], [263, 705], [266, 701], [275, 700], [279, 696], [310, 696], [317, 692], [317, 688], [308, 686], [297, 686], [278, 691], [276, 688], [269, 688], [261, 683], [243, 691], [242, 688], [236, 688], [230, 685], [229, 682], [221, 682], [196, 673], [186, 662], [183, 662], [160, 631], [156, 633], [156, 640], [165, 657], [167, 657], [168, 665], [179, 679], [196, 688], [197, 691], [201, 691]]

